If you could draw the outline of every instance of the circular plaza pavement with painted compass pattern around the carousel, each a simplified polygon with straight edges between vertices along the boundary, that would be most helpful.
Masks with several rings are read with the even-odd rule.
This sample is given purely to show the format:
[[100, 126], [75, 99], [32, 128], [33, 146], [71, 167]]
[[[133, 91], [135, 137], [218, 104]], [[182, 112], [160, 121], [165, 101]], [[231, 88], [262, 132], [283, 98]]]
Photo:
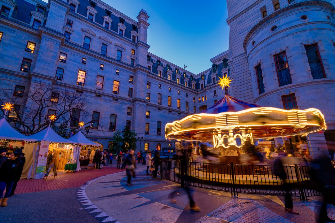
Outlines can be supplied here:
[[[116, 173], [87, 182], [77, 190], [76, 196], [82, 208], [100, 222], [286, 222], [314, 223], [317, 199], [310, 202], [293, 200], [294, 210], [300, 215], [284, 211], [284, 198], [194, 189], [194, 200], [200, 212], [189, 209], [186, 192], [178, 184], [146, 176], [144, 169], [138, 170], [132, 186], [127, 185], [125, 172]], [[142, 172], [140, 172], [142, 171]], [[172, 191], [178, 190], [176, 204], [167, 200]], [[97, 193], [97, 191], [104, 193]], [[334, 206], [328, 207], [329, 217], [335, 219]]]

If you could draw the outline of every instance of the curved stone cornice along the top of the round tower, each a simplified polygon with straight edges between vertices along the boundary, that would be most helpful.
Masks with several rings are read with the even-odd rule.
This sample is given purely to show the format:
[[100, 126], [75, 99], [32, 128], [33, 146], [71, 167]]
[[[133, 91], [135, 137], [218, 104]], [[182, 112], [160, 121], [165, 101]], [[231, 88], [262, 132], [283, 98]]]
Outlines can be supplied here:
[[295, 9], [297, 7], [303, 7], [303, 6], [311, 6], [311, 5], [316, 5], [316, 6], [323, 6], [323, 7], [327, 7], [330, 10], [333, 10], [334, 7], [331, 3], [326, 2], [326, 1], [305, 1], [305, 2], [298, 2], [295, 4], [291, 4], [285, 8], [281, 8], [277, 11], [275, 11], [274, 13], [270, 14], [269, 16], [265, 17], [264, 19], [262, 19], [260, 22], [258, 22], [253, 28], [251, 28], [251, 30], [248, 32], [248, 34], [246, 35], [244, 42], [243, 42], [243, 48], [244, 50], [247, 50], [247, 42], [250, 38], [250, 36], [261, 26], [263, 26], [265, 23], [271, 21], [274, 17], [276, 17], [277, 15], [289, 11], [291, 9]]

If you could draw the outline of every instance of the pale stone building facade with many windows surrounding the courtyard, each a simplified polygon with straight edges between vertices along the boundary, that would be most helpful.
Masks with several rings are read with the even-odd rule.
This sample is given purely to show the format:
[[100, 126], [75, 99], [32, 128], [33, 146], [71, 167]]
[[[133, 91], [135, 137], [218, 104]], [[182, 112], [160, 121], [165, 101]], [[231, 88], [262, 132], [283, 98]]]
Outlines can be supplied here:
[[1, 86], [75, 89], [90, 104], [79, 119], [97, 127], [88, 138], [107, 148], [114, 130], [129, 125], [141, 148], [153, 149], [173, 146], [165, 124], [214, 105], [224, 94], [215, 82], [227, 75], [240, 100], [320, 109], [329, 130], [309, 137], [322, 151], [335, 129], [334, 4], [227, 0], [229, 49], [192, 74], [148, 51], [145, 10], [134, 20], [100, 0], [0, 0]]

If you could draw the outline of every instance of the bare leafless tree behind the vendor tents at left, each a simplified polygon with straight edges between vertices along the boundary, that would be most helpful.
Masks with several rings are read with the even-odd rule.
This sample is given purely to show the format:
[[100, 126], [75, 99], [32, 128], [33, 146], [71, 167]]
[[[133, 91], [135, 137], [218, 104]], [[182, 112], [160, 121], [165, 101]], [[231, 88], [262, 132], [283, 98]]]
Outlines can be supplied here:
[[[13, 117], [8, 118], [13, 127], [21, 133], [31, 135], [49, 125], [48, 112], [55, 113], [54, 122], [65, 122], [68, 125], [73, 109], [80, 109], [81, 117], [89, 117], [86, 112], [88, 102], [82, 94], [77, 93], [71, 86], [34, 83], [23, 94], [13, 94], [13, 89], [0, 88], [0, 102], [11, 102], [16, 107], [12, 111]], [[4, 111], [2, 111], [4, 112]]]

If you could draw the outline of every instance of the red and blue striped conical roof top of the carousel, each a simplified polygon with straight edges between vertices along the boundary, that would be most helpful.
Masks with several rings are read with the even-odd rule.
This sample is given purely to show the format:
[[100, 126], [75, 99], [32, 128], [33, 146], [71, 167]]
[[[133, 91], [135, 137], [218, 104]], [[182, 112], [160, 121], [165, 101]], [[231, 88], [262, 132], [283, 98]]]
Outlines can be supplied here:
[[240, 101], [226, 94], [215, 105], [213, 105], [209, 109], [203, 110], [201, 113], [218, 114], [222, 112], [237, 112], [248, 108], [257, 108], [257, 107], [261, 106]]

